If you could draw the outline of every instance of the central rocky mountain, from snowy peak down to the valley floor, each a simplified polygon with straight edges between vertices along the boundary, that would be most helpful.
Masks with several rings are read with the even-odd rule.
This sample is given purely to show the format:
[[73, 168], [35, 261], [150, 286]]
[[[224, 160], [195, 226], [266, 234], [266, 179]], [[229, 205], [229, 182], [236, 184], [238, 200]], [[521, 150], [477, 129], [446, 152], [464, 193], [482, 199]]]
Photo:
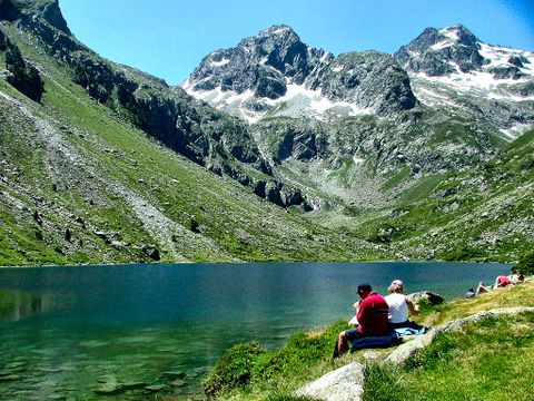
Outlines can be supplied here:
[[477, 165], [508, 140], [487, 119], [421, 104], [397, 60], [334, 57], [275, 26], [207, 55], [182, 87], [249, 121], [273, 175], [313, 208], [379, 208], [425, 175]]

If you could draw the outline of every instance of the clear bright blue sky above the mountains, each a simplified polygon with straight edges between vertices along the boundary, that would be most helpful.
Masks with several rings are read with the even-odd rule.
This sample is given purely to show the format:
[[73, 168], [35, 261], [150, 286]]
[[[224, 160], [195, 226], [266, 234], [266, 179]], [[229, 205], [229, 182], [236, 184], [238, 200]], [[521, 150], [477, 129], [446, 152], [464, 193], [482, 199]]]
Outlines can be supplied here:
[[60, 7], [91, 49], [170, 85], [208, 52], [279, 23], [336, 56], [393, 53], [427, 27], [455, 23], [487, 43], [534, 51], [533, 0], [60, 0]]

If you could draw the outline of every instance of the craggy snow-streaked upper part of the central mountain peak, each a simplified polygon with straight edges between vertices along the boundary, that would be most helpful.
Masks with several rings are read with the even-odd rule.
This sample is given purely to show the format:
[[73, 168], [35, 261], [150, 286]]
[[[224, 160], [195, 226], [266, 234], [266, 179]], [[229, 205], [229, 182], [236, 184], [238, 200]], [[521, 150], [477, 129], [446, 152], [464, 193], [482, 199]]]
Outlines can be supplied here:
[[405, 71], [385, 53], [334, 57], [274, 26], [236, 48], [206, 56], [181, 87], [198, 99], [255, 123], [265, 116], [388, 116], [415, 107]]

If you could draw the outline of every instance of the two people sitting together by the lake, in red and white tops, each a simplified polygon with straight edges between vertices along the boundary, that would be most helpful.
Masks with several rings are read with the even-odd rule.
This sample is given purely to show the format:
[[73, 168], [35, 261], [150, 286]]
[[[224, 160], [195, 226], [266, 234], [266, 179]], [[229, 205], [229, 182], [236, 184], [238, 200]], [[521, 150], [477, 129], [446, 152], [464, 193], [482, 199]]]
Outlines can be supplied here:
[[354, 348], [354, 343], [359, 339], [387, 338], [395, 334], [393, 330], [404, 327], [424, 332], [425, 326], [408, 320], [408, 312], [417, 315], [419, 309], [404, 294], [404, 283], [394, 280], [388, 291], [389, 295], [382, 296], [374, 292], [369, 284], [358, 285], [357, 294], [360, 300], [354, 304], [356, 319], [349, 322], [356, 324], [356, 327], [339, 333], [334, 358], [347, 352], [349, 343]]

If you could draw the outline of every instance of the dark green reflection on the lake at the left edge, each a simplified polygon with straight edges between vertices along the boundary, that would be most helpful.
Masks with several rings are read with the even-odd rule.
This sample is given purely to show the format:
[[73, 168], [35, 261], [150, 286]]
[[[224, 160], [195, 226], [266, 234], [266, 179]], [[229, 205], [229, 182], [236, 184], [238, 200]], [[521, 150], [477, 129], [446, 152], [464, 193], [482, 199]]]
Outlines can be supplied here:
[[0, 323], [51, 311], [51, 294], [31, 293], [19, 290], [0, 290]]

